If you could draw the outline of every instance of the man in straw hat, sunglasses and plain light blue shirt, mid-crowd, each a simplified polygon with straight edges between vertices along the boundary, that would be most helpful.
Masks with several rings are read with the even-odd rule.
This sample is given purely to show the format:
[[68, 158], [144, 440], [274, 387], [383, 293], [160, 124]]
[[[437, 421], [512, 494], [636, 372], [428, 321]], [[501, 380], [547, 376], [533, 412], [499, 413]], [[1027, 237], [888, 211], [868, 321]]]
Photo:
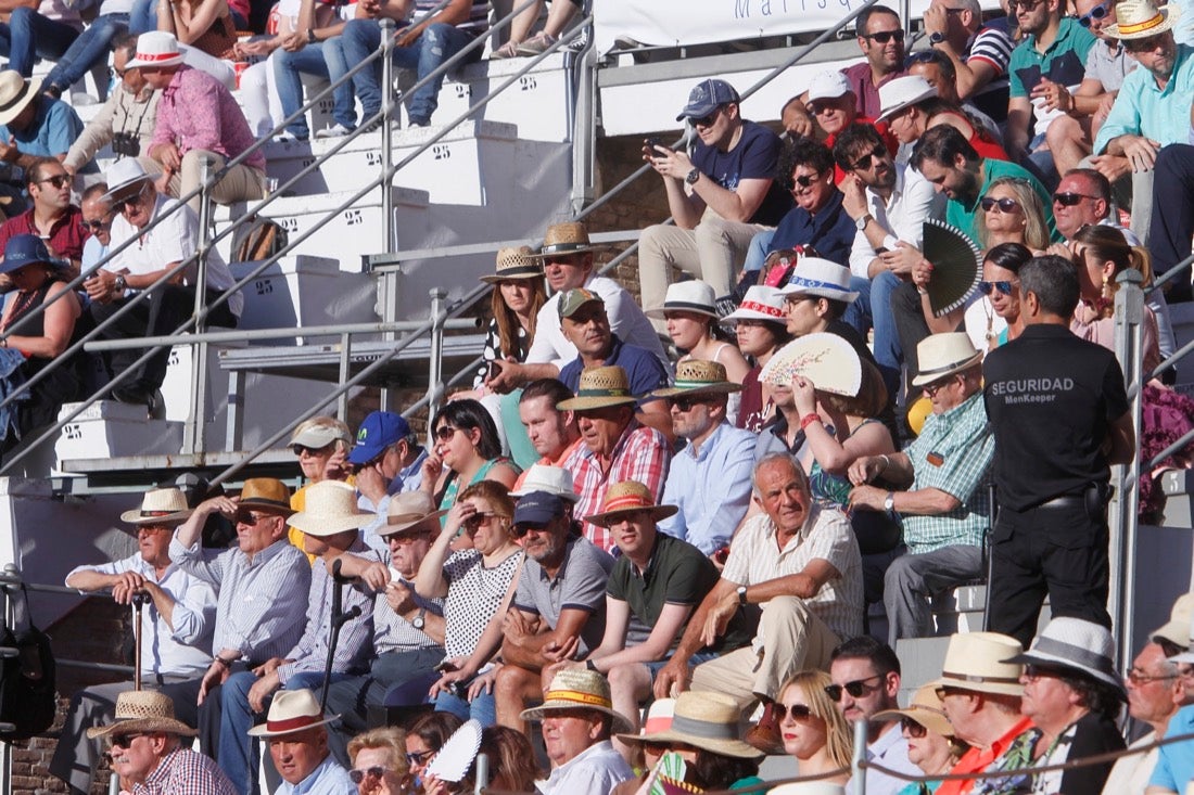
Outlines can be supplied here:
[[671, 430], [688, 444], [672, 457], [663, 501], [679, 510], [659, 523], [706, 555], [730, 547], [750, 505], [750, 473], [758, 436], [726, 417], [730, 394], [741, 384], [716, 362], [689, 359], [676, 368], [676, 386], [651, 393], [671, 411]]

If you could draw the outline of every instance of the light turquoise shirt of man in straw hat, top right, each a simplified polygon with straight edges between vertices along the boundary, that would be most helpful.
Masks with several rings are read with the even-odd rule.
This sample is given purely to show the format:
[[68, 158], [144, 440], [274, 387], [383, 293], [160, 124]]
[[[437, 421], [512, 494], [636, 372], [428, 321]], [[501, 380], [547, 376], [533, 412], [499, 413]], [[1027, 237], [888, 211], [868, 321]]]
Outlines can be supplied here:
[[1102, 154], [1113, 138], [1143, 135], [1165, 147], [1186, 143], [1190, 131], [1190, 103], [1194, 103], [1194, 48], [1178, 44], [1174, 72], [1164, 88], [1147, 69], [1124, 78], [1112, 112], [1095, 136], [1094, 153]]

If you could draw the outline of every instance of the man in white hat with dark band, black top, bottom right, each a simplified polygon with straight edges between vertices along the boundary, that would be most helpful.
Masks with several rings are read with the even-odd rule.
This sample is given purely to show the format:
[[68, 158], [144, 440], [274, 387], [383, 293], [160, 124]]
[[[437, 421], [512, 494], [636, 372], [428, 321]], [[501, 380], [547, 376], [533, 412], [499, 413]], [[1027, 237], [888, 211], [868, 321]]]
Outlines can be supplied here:
[[[1077, 762], [1124, 750], [1115, 726], [1125, 701], [1115, 671], [1115, 641], [1106, 627], [1083, 618], [1054, 618], [1032, 647], [1009, 658], [1022, 662], [1020, 713], [1041, 731], [1036, 764]], [[1036, 774], [1036, 793], [1102, 791], [1112, 763]]]

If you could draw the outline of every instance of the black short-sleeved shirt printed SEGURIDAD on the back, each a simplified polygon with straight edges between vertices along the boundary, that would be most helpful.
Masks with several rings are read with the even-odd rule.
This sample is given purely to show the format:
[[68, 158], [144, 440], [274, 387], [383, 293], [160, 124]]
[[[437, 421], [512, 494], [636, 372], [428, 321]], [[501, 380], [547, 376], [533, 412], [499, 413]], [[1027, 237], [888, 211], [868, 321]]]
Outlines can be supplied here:
[[987, 353], [983, 375], [1001, 506], [1023, 511], [1107, 483], [1101, 448], [1128, 408], [1112, 351], [1065, 326], [1034, 323]]

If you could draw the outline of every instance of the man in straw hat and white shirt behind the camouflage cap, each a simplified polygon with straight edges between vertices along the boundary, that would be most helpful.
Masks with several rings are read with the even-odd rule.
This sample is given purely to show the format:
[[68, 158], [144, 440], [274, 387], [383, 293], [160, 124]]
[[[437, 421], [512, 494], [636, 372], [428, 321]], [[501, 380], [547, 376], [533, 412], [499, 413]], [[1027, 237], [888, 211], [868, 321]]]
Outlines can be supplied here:
[[564, 334], [559, 310], [560, 297], [573, 288], [585, 288], [599, 295], [605, 302], [614, 333], [630, 345], [651, 351], [664, 365], [667, 364], [656, 329], [634, 296], [614, 279], [597, 276], [593, 271], [593, 252], [597, 248], [589, 242], [589, 230], [579, 221], [548, 227], [538, 259], [543, 260], [543, 273], [553, 295], [535, 319], [535, 338], [527, 360], [519, 364], [497, 359], [494, 365], [498, 372], [486, 381], [490, 389], [510, 392], [535, 378], [555, 378], [564, 365], [577, 358], [577, 347]]

